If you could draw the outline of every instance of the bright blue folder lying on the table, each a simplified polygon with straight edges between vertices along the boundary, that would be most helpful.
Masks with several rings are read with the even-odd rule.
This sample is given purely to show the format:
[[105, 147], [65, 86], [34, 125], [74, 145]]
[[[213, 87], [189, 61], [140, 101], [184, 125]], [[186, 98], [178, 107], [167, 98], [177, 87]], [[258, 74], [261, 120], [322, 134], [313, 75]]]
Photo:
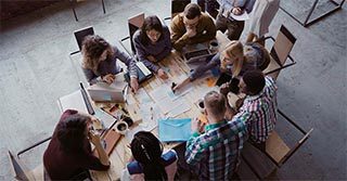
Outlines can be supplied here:
[[191, 118], [159, 120], [159, 140], [162, 142], [188, 141], [191, 137]]

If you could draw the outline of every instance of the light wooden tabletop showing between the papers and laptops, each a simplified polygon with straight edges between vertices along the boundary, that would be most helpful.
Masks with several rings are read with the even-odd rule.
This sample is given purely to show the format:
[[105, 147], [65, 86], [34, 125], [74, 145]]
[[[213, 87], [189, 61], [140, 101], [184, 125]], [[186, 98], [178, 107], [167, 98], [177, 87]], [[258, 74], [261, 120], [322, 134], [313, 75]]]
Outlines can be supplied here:
[[[223, 48], [228, 41], [223, 38], [227, 38], [221, 33], [217, 34], [217, 40], [220, 43], [220, 48]], [[171, 85], [171, 82], [179, 82], [180, 77], [188, 76], [191, 68], [183, 62], [181, 59], [180, 53], [172, 51], [169, 56], [167, 56], [165, 60], [163, 60], [160, 63], [162, 67], [168, 68], [168, 80], [162, 80], [157, 78], [156, 76], [151, 78], [150, 80], [143, 82], [141, 85], [141, 88], [145, 90], [146, 93], [150, 93], [152, 90], [157, 88], [158, 86], [163, 83]], [[202, 99], [207, 92], [210, 90], [219, 90], [218, 88], [214, 87], [214, 82], [217, 81], [218, 77], [205, 76], [203, 78], [198, 78], [190, 86], [192, 89], [185, 94], [183, 94], [180, 99], [184, 99], [187, 103], [190, 105], [190, 109], [183, 114], [178, 115], [175, 118], [194, 118], [197, 117], [201, 112], [196, 105], [196, 102]], [[211, 86], [213, 85], [213, 86]], [[131, 94], [132, 99], [136, 100], [133, 94]], [[140, 116], [140, 103], [139, 100], [136, 101], [132, 105], [125, 105], [126, 108], [129, 112], [130, 117], [134, 121], [141, 121]], [[152, 131], [155, 135], [158, 135], [157, 127]], [[129, 142], [125, 137], [120, 139], [120, 141], [117, 143], [115, 150], [110, 156], [111, 159], [111, 168], [107, 171], [91, 171], [91, 174], [93, 179], [95, 180], [116, 180], [120, 178], [121, 170], [125, 168], [126, 164], [128, 163], [129, 158], [131, 157], [131, 151], [128, 148]], [[165, 144], [164, 146], [166, 150], [169, 150], [174, 147], [177, 144]]]

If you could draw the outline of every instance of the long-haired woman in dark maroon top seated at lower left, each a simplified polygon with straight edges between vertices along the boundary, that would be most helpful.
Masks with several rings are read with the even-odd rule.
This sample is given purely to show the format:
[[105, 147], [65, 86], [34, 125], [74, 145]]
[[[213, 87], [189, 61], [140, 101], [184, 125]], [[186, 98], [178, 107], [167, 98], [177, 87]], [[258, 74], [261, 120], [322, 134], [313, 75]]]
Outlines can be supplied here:
[[[110, 168], [100, 135], [89, 131], [92, 121], [99, 120], [74, 109], [63, 113], [43, 155], [43, 166], [50, 179], [83, 179], [77, 176], [88, 176], [89, 169]], [[99, 157], [93, 155], [90, 142], [95, 146]]]

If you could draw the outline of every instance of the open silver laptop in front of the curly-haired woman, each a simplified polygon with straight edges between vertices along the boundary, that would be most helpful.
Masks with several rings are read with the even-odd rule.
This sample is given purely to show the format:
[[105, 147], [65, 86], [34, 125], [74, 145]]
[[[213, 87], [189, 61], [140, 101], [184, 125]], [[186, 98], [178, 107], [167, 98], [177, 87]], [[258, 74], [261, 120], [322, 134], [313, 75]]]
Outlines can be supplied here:
[[95, 102], [114, 102], [125, 103], [128, 86], [125, 85], [107, 85], [106, 82], [98, 82], [87, 89], [90, 99]]

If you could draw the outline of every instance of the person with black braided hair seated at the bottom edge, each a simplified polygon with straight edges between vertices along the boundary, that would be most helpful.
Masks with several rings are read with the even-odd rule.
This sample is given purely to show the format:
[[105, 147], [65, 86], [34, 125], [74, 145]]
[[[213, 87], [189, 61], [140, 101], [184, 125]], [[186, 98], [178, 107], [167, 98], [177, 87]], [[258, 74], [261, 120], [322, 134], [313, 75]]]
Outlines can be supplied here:
[[123, 170], [120, 180], [169, 180], [177, 171], [177, 153], [170, 150], [163, 154], [160, 141], [151, 132], [137, 132], [130, 143], [134, 158]]

